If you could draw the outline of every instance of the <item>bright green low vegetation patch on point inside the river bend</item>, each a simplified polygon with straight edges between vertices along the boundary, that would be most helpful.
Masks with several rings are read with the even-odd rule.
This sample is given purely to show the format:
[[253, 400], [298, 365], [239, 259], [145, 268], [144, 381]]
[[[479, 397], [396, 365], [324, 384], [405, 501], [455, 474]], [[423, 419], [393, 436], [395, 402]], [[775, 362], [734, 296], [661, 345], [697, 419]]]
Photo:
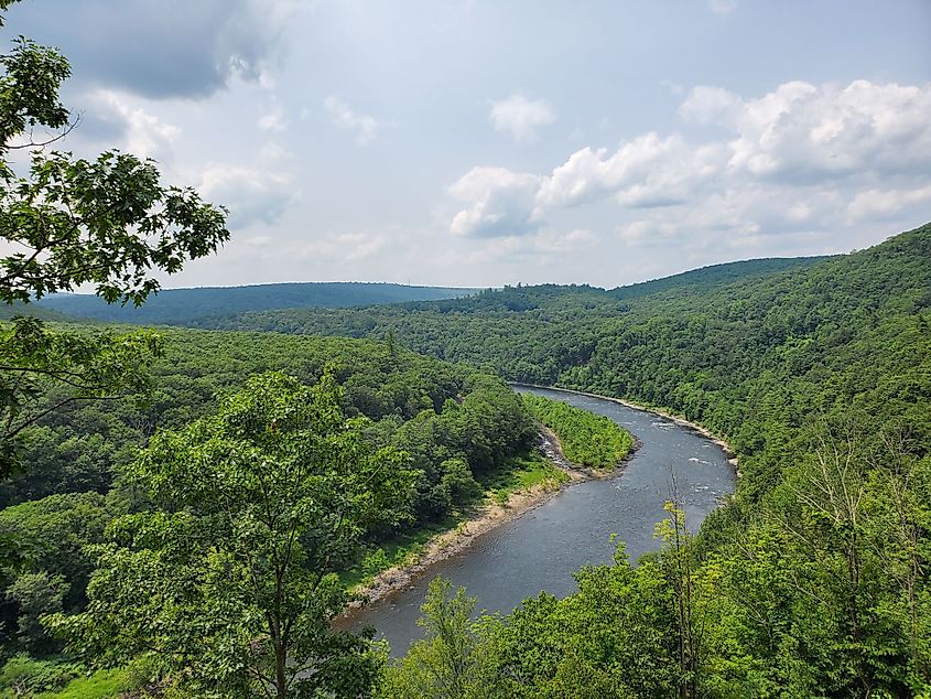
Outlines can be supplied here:
[[522, 394], [521, 399], [533, 417], [553, 430], [573, 463], [613, 469], [634, 448], [630, 432], [610, 418], [543, 396]]

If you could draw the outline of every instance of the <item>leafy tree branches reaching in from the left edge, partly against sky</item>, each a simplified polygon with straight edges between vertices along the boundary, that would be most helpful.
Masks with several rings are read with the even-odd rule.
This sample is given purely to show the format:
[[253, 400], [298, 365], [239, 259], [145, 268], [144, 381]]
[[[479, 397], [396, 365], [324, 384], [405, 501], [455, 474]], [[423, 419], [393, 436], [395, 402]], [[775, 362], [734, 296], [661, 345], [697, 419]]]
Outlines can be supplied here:
[[[155, 272], [177, 272], [229, 239], [226, 211], [162, 184], [152, 160], [46, 152], [76, 123], [58, 99], [71, 66], [57, 51], [20, 37], [0, 68], [0, 240], [10, 250], [0, 256], [0, 302], [89, 284], [108, 302], [139, 305], [158, 292]], [[36, 129], [47, 136], [36, 141]], [[11, 151], [30, 153], [25, 174]], [[25, 428], [75, 400], [145, 388], [158, 351], [151, 333], [64, 332], [23, 316], [0, 323], [0, 477], [17, 467]]]

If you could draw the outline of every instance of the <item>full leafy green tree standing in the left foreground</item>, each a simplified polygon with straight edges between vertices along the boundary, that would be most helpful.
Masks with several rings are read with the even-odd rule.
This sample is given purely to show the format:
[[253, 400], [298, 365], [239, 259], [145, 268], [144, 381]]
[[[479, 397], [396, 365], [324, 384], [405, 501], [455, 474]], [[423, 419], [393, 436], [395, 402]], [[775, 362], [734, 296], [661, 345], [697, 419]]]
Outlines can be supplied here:
[[50, 620], [69, 647], [151, 656], [183, 696], [366, 693], [379, 654], [331, 631], [347, 602], [336, 571], [367, 529], [405, 516], [414, 474], [339, 398], [332, 372], [313, 387], [260, 375], [216, 416], [155, 435], [133, 475], [161, 509], [110, 526], [87, 611]]

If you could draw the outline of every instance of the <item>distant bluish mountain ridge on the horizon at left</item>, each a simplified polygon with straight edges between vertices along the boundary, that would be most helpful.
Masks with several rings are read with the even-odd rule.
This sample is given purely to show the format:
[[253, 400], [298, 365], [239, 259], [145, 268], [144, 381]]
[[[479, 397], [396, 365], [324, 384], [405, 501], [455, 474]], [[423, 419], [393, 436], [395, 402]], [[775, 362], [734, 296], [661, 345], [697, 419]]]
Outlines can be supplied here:
[[187, 325], [205, 318], [223, 318], [249, 311], [434, 301], [455, 299], [474, 292], [475, 289], [405, 287], [392, 283], [302, 282], [164, 289], [140, 308], [107, 304], [96, 295], [82, 293], [54, 294], [42, 299], [37, 305], [72, 316], [102, 321]]

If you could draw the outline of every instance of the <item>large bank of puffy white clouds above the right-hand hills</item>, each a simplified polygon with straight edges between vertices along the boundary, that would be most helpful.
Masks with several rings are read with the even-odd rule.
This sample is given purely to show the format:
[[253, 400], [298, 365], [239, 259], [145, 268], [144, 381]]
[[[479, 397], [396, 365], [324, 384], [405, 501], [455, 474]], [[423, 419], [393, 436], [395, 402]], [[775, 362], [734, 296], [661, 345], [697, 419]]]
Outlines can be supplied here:
[[738, 250], [768, 236], [810, 239], [931, 201], [928, 114], [931, 85], [792, 82], [750, 99], [700, 86], [680, 115], [716, 125], [717, 139], [648, 132], [613, 151], [580, 149], [541, 175], [475, 168], [450, 190], [465, 203], [451, 230], [542, 239], [541, 222], [556, 212], [613, 200], [626, 218], [617, 235], [638, 245], [675, 238]]

